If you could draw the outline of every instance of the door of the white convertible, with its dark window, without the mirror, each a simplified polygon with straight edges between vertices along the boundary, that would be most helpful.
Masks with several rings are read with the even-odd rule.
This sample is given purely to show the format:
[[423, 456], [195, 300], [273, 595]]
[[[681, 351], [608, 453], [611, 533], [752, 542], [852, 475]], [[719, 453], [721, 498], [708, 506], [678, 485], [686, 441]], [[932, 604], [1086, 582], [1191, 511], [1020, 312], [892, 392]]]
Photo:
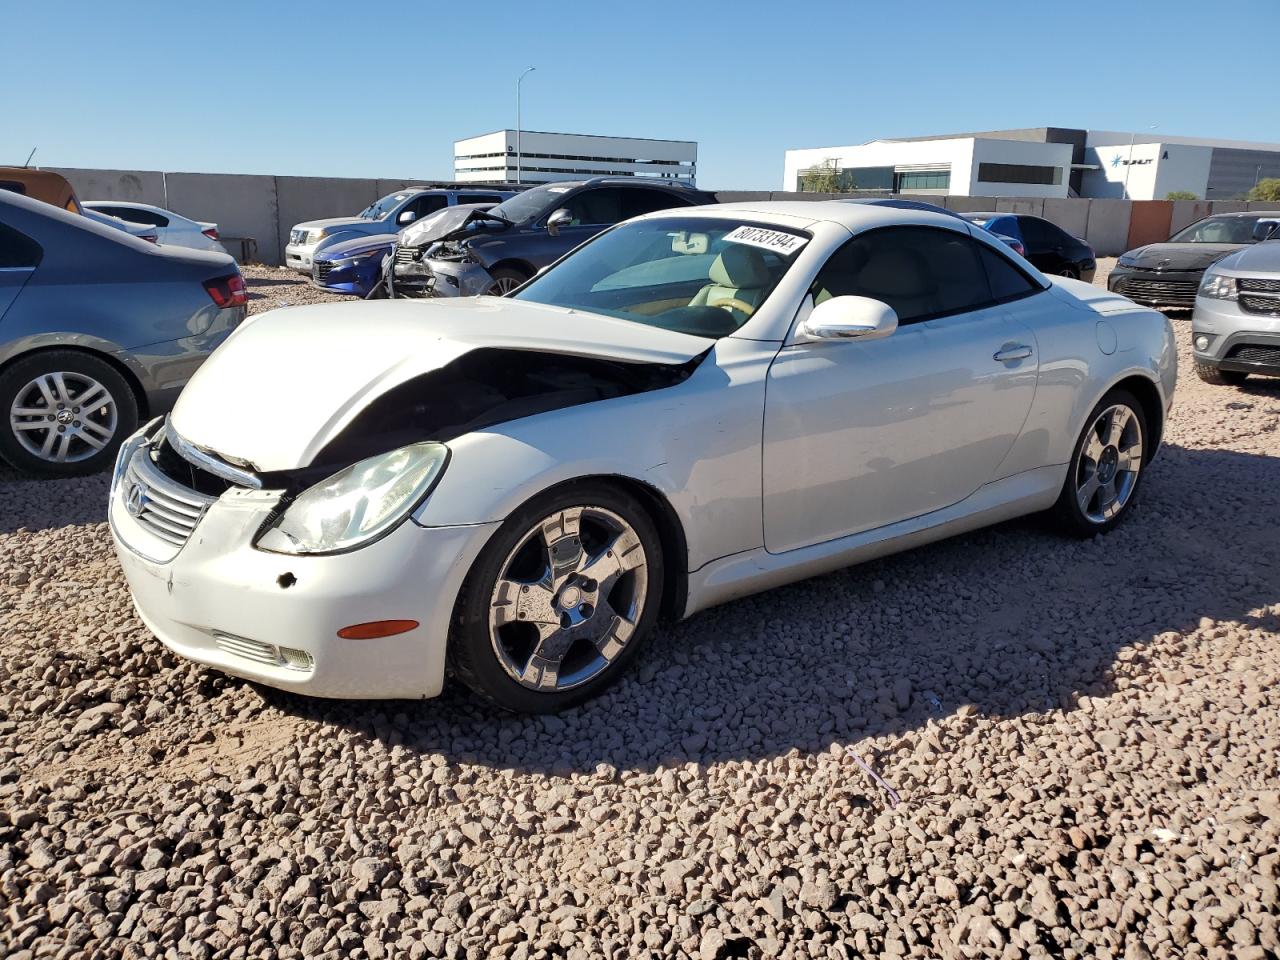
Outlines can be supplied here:
[[778, 352], [764, 411], [771, 552], [948, 507], [996, 476], [1030, 410], [1037, 361], [983, 256], [968, 233], [891, 227], [859, 234], [819, 271], [808, 303], [872, 297], [900, 326]]

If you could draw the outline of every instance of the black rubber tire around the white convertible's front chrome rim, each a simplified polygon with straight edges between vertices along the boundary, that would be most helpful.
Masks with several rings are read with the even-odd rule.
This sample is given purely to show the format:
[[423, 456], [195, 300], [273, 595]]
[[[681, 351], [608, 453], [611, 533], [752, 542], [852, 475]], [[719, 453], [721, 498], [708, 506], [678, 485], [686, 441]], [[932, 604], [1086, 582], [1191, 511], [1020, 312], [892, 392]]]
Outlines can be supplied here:
[[[644, 548], [648, 573], [648, 586], [643, 593], [644, 605], [630, 639], [599, 673], [564, 690], [534, 690], [517, 682], [499, 660], [489, 626], [493, 595], [504, 564], [530, 530], [557, 511], [575, 507], [609, 511], [631, 526]], [[516, 713], [563, 710], [595, 696], [627, 671], [653, 634], [659, 617], [662, 589], [662, 539], [640, 500], [620, 486], [600, 481], [582, 481], [556, 488], [535, 497], [512, 513], [476, 558], [462, 584], [453, 612], [448, 641], [449, 668], [453, 676], [472, 691], [503, 709]]]

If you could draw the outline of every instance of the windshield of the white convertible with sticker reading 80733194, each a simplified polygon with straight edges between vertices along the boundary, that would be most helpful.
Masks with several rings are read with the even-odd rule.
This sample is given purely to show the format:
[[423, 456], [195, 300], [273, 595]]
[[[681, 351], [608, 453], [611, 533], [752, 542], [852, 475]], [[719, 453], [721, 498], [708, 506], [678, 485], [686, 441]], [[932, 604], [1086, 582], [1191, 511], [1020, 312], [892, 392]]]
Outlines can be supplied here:
[[634, 220], [512, 296], [696, 337], [727, 337], [764, 305], [808, 242], [806, 233], [746, 220]]

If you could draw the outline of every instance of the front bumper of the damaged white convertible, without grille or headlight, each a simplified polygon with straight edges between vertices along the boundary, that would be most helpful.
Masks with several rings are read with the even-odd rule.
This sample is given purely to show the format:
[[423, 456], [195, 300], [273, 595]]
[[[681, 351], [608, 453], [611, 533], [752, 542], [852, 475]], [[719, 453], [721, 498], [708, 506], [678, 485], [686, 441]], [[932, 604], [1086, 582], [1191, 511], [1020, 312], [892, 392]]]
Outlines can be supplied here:
[[[148, 447], [132, 456], [148, 456]], [[174, 653], [311, 696], [440, 692], [454, 599], [497, 524], [424, 527], [406, 520], [349, 553], [291, 557], [252, 545], [278, 494], [232, 488], [175, 549], [129, 512], [131, 492], [129, 477], [113, 484], [111, 538], [138, 614]], [[337, 635], [378, 620], [420, 626], [378, 640]]]

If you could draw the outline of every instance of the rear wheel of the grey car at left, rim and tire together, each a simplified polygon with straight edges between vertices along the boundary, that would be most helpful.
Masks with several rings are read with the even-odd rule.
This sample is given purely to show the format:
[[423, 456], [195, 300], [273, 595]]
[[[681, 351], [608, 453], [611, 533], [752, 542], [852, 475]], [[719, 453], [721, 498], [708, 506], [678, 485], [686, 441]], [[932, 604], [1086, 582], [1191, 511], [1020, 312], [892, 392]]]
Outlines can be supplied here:
[[36, 353], [0, 374], [0, 456], [44, 476], [106, 468], [138, 425], [138, 401], [120, 372], [76, 351]]

